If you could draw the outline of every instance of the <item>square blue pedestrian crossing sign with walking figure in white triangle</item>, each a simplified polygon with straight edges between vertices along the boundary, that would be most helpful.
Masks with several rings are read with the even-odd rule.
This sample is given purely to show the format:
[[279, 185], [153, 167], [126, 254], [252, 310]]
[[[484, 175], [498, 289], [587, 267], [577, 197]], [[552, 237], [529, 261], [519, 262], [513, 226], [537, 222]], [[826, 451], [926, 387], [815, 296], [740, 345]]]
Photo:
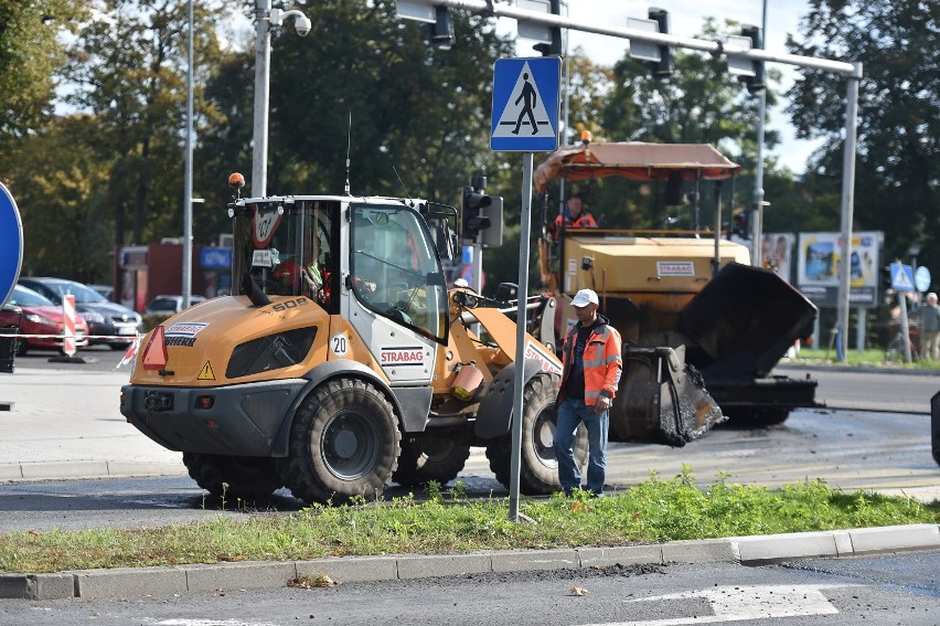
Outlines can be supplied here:
[[493, 65], [490, 148], [551, 152], [558, 147], [562, 60], [500, 59]]

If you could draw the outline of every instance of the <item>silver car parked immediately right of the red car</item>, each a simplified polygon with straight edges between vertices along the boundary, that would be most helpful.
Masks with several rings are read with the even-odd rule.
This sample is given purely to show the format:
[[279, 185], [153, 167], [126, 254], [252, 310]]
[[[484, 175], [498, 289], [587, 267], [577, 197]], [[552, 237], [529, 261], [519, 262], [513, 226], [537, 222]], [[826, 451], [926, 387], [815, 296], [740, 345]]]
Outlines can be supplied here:
[[111, 303], [82, 283], [64, 278], [20, 276], [20, 285], [39, 291], [53, 304], [62, 306], [62, 296], [75, 296], [75, 310], [88, 322], [90, 343], [125, 350], [140, 332], [142, 318], [124, 305]]

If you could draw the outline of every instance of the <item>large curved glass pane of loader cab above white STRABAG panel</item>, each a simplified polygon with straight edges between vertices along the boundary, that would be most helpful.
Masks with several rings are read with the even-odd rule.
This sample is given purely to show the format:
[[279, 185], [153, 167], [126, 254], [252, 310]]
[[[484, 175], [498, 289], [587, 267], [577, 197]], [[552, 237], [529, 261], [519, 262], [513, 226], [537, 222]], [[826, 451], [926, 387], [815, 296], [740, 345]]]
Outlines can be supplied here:
[[421, 216], [405, 206], [353, 205], [353, 293], [367, 308], [439, 342], [447, 288]]

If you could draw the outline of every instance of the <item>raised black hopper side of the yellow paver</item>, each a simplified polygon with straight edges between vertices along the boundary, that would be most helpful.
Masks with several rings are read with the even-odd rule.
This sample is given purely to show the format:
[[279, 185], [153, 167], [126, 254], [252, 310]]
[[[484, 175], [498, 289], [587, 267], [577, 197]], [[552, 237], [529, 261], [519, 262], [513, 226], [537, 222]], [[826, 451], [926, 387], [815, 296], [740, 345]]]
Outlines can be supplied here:
[[730, 263], [682, 310], [686, 358], [708, 381], [765, 378], [809, 333], [816, 307], [777, 273]]

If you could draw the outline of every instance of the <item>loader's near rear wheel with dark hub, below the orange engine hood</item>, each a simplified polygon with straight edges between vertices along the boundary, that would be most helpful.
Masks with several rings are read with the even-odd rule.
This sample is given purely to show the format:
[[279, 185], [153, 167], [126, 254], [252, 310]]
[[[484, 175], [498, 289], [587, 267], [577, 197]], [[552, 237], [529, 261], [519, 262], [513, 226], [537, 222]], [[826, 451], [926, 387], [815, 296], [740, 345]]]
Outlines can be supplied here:
[[293, 417], [280, 476], [305, 502], [382, 495], [398, 460], [395, 410], [371, 384], [338, 379], [317, 388]]

